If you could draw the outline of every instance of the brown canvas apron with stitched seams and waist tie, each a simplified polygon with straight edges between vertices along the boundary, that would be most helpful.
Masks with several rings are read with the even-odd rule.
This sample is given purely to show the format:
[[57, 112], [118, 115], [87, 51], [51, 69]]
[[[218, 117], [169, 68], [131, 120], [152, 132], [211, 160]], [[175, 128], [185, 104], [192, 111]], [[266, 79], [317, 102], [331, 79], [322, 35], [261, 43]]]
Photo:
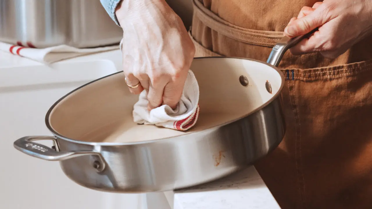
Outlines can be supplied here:
[[[316, 0], [194, 0], [195, 57], [266, 61], [291, 17]], [[372, 37], [336, 59], [287, 52], [286, 135], [255, 164], [283, 209], [372, 209]]]

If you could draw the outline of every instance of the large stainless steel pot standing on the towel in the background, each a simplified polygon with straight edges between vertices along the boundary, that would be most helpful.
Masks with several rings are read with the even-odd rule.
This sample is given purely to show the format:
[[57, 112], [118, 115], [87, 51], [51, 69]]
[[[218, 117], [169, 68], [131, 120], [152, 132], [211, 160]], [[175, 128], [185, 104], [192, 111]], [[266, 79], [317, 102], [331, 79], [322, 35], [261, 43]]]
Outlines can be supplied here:
[[0, 0], [0, 41], [45, 48], [118, 44], [122, 29], [99, 0]]

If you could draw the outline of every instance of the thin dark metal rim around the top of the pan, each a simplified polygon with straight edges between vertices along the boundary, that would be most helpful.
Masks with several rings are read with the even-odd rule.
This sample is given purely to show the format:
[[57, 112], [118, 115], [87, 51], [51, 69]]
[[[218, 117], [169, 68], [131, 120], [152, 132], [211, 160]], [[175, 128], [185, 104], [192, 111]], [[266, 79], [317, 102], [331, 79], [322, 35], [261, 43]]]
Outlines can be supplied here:
[[[195, 57], [194, 60], [215, 59], [215, 58], [218, 58], [218, 59], [226, 59], [227, 58], [227, 59], [249, 60], [249, 61], [259, 62], [261, 64], [265, 64], [265, 65], [273, 68], [274, 70], [276, 70], [278, 72], [282, 82], [280, 84], [279, 90], [267, 102], [263, 103], [263, 105], [257, 107], [256, 109], [253, 109], [253, 111], [251, 111], [249, 114], [240, 116], [239, 118], [236, 118], [234, 120], [230, 120], [230, 121], [222, 123], [220, 125], [213, 126], [211, 128], [208, 128], [208, 129], [204, 129], [203, 132], [218, 129], [219, 127], [228, 125], [230, 123], [233, 123], [233, 122], [236, 122], [236, 121], [241, 120], [243, 118], [246, 118], [250, 115], [253, 115], [254, 113], [258, 112], [259, 110], [263, 109], [264, 107], [266, 107], [267, 105], [272, 103], [274, 100], [276, 100], [277, 97], [282, 93], [282, 90], [283, 90], [283, 87], [284, 87], [284, 84], [285, 84], [285, 78], [284, 78], [284, 75], [283, 75], [282, 71], [280, 71], [278, 67], [275, 67], [274, 65], [271, 65], [267, 62], [263, 62], [263, 61], [260, 61], [260, 60], [254, 60], [254, 59], [242, 58], [242, 57], [217, 57], [217, 56], [214, 56], [214, 57]], [[49, 122], [49, 118], [50, 118], [50, 114], [51, 114], [52, 110], [54, 109], [55, 106], [58, 105], [58, 103], [60, 103], [63, 99], [68, 97], [70, 94], [74, 93], [77, 90], [80, 90], [81, 88], [83, 88], [83, 87], [85, 87], [89, 84], [92, 84], [96, 81], [102, 80], [104, 78], [107, 78], [107, 77], [110, 77], [110, 76], [113, 76], [113, 75], [116, 75], [116, 74], [119, 74], [119, 73], [123, 73], [123, 71], [118, 71], [118, 72], [103, 76], [101, 78], [97, 78], [96, 80], [90, 81], [90, 82], [88, 82], [88, 83], [86, 83], [86, 84], [84, 84], [80, 87], [77, 87], [76, 89], [68, 92], [67, 94], [62, 96], [60, 99], [58, 99], [55, 103], [53, 103], [53, 105], [51, 107], [49, 107], [48, 112], [45, 115], [45, 125], [47, 126], [49, 131], [52, 132], [52, 134], [54, 136], [56, 136], [57, 138], [60, 138], [60, 139], [63, 139], [63, 140], [69, 141], [69, 142], [73, 142], [73, 143], [76, 143], [76, 144], [84, 144], [84, 145], [92, 145], [92, 146], [126, 146], [126, 145], [136, 145], [136, 144], [151, 144], [151, 143], [159, 142], [159, 141], [164, 142], [164, 141], [168, 141], [168, 140], [174, 140], [176, 138], [183, 138], [185, 136], [189, 136], [189, 135], [193, 135], [193, 134], [198, 133], [198, 132], [190, 132], [190, 133], [185, 133], [185, 134], [178, 135], [178, 136], [169, 136], [169, 137], [165, 137], [165, 138], [153, 139], [153, 140], [148, 140], [148, 141], [138, 141], [138, 142], [88, 142], [88, 141], [79, 141], [79, 140], [76, 140], [76, 139], [68, 138], [68, 137], [58, 133], [57, 131], [54, 130], [54, 128], [52, 128], [52, 126]]]

